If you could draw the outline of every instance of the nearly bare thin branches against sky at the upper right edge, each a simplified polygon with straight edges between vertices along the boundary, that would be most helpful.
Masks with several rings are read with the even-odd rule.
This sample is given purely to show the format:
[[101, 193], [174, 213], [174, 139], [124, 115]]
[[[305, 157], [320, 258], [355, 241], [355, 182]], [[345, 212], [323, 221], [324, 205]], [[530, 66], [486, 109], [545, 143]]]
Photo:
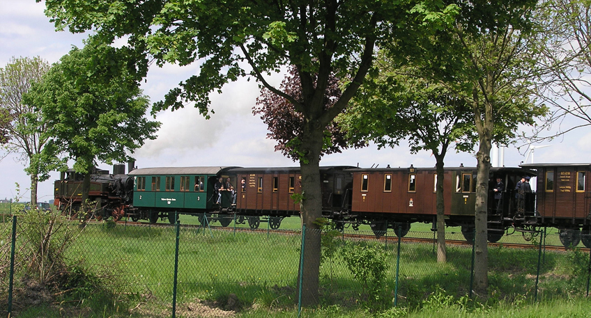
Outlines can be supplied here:
[[[540, 38], [540, 63], [548, 72], [541, 75], [539, 97], [553, 106], [553, 113], [530, 140], [553, 138], [573, 129], [591, 125], [591, 3], [584, 0], [544, 1], [546, 11], [540, 22], [546, 37]], [[542, 136], [558, 124], [558, 132]]]

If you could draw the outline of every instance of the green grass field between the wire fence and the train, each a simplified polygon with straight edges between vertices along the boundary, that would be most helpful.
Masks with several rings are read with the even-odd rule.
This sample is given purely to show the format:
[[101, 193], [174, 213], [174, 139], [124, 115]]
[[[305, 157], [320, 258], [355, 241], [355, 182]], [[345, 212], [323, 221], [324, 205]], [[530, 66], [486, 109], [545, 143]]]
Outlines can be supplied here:
[[[292, 220], [298, 222], [291, 223]], [[299, 225], [298, 218], [285, 221], [290, 222], [282, 223], [286, 227]], [[7, 225], [3, 223], [3, 233]], [[77, 304], [73, 308], [87, 308], [93, 315], [84, 309], [73, 310], [71, 305], [53, 305], [21, 310], [17, 317], [38, 317], [40, 312], [44, 317], [61, 317], [63, 310], [73, 310], [68, 317], [170, 315], [175, 273], [174, 227], [105, 222], [90, 223], [81, 230], [75, 222], [72, 225], [77, 239], [68, 249], [66, 259], [77, 271], [93, 273], [91, 278], [102, 277], [104, 289], [90, 294], [65, 294], [62, 301]], [[371, 234], [370, 231], [360, 232]], [[409, 235], [430, 237], [432, 233], [413, 228]], [[454, 239], [458, 235], [461, 237], [454, 232], [448, 235]], [[299, 234], [181, 227], [178, 240], [176, 283], [180, 317], [196, 317], [196, 310], [204, 303], [213, 305], [211, 311], [206, 310], [206, 316], [214, 309], [229, 309], [229, 299], [233, 297], [238, 305], [230, 309], [240, 309], [242, 317], [295, 317]], [[383, 285], [377, 292], [371, 292], [371, 284], [360, 281], [348, 268], [343, 255], [349, 253], [347, 248], [351, 245], [377, 246], [385, 257]], [[513, 311], [509, 310], [513, 312], [512, 317], [520, 317], [515, 308], [531, 307], [530, 313], [543, 308], [532, 305], [538, 251], [489, 248], [491, 292], [488, 300], [482, 303], [467, 298], [470, 246], [448, 246], [445, 264], [436, 262], [432, 244], [403, 244], [400, 254], [397, 247], [394, 238], [360, 242], [337, 237], [333, 244], [325, 244], [325, 250], [334, 253], [325, 257], [321, 267], [321, 307], [307, 309], [304, 317], [403, 317], [402, 314], [426, 317], [436, 312], [443, 315], [441, 317], [472, 317], [470, 315], [482, 315], [482, 310], [488, 314], [507, 308], [512, 308]], [[585, 295], [588, 260], [589, 255], [580, 251], [546, 253], [540, 269], [538, 301], [556, 302], [568, 312], [572, 299]], [[22, 278], [22, 273], [19, 275]], [[392, 307], [395, 291], [398, 293], [397, 308], [404, 309]], [[133, 310], [137, 306], [137, 310]]]

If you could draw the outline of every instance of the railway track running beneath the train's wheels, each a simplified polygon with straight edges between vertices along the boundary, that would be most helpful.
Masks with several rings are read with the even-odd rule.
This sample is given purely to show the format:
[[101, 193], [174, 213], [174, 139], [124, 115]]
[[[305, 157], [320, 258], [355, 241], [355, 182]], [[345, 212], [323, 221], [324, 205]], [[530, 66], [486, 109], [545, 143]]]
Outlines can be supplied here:
[[[169, 223], [148, 223], [148, 222], [134, 222], [134, 221], [116, 221], [118, 224], [125, 224], [130, 226], [149, 226], [149, 227], [165, 227], [170, 228], [174, 225]], [[183, 225], [183, 228], [202, 228], [202, 225]], [[251, 228], [233, 228], [233, 227], [222, 227], [219, 225], [210, 225], [210, 228], [215, 228], [216, 230], [227, 230], [227, 231], [239, 231], [239, 232], [269, 232], [269, 233], [282, 233], [282, 234], [299, 234], [300, 231], [298, 230], [272, 230], [272, 229], [251, 229]], [[344, 233], [342, 235], [343, 238], [346, 239], [358, 239], [362, 241], [371, 241], [375, 240], [376, 236], [373, 234], [355, 234], [355, 233]], [[387, 241], [392, 242], [392, 244], [396, 244], [398, 241], [398, 237], [380, 237], [380, 241]], [[402, 237], [401, 242], [408, 244], [408, 243], [415, 243], [415, 244], [436, 244], [436, 239], [433, 238], [424, 238], [424, 237]], [[459, 239], [446, 239], [445, 244], [448, 246], [472, 246], [466, 240], [459, 240]], [[537, 250], [539, 245], [537, 244], [520, 244], [520, 243], [490, 243], [489, 246], [495, 247], [505, 247], [505, 248], [521, 248], [521, 249], [532, 249]], [[564, 246], [555, 246], [555, 245], [545, 245], [542, 246], [546, 251], [567, 251], [567, 248]], [[581, 251], [585, 253], [589, 253], [590, 248], [581, 248]]]

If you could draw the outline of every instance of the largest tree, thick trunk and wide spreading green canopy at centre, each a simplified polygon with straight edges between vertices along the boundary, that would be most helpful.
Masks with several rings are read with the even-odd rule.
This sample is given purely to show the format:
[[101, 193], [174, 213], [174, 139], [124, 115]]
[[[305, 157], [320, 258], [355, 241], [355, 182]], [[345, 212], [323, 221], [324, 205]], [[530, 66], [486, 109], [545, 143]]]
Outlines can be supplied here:
[[[302, 113], [296, 149], [302, 173], [302, 216], [307, 228], [313, 229], [305, 241], [304, 305], [318, 303], [321, 239], [316, 219], [321, 217], [319, 161], [326, 127], [357, 92], [377, 42], [408, 36], [404, 27], [415, 23], [414, 19], [442, 23], [456, 13], [431, 0], [56, 0], [46, 1], [46, 6], [58, 29], [95, 29], [107, 41], [129, 35], [130, 47], [137, 54], [151, 54], [159, 65], [202, 62], [199, 74], [172, 89], [153, 111], [174, 110], [183, 107], [183, 102], [194, 101], [207, 117], [211, 91], [250, 76]], [[432, 15], [433, 11], [445, 12]], [[266, 74], [286, 65], [296, 67], [301, 101], [266, 80]], [[324, 95], [333, 75], [349, 81], [343, 84], [335, 104], [325, 109]]]

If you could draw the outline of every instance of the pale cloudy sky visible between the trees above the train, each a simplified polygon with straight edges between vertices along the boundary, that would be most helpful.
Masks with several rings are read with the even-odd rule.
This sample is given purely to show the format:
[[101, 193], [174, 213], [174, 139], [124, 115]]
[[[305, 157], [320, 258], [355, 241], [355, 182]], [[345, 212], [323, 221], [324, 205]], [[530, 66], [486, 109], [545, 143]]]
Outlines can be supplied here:
[[[59, 61], [68, 54], [72, 46], [82, 47], [84, 34], [67, 31], [56, 32], [54, 25], [45, 17], [45, 3], [35, 0], [0, 0], [0, 67], [10, 63], [11, 58], [40, 56], [49, 63]], [[152, 65], [142, 89], [152, 102], [162, 100], [164, 94], [199, 72], [199, 65]], [[278, 85], [282, 74], [268, 79]], [[215, 113], [206, 120], [192, 105], [178, 111], [162, 111], [157, 120], [162, 122], [158, 138], [132, 154], [139, 168], [160, 166], [298, 166], [280, 152], [274, 151], [275, 142], [267, 138], [267, 127], [259, 116], [252, 114], [256, 104], [259, 86], [246, 79], [224, 86], [222, 93], [213, 93], [211, 109]], [[525, 128], [526, 130], [529, 130]], [[518, 142], [505, 149], [505, 166], [517, 166], [525, 161], [525, 151], [519, 151]], [[536, 163], [574, 163], [590, 162], [591, 129], [578, 129], [566, 136], [539, 145], [549, 147], [535, 150]], [[528, 163], [531, 162], [531, 158]], [[340, 154], [323, 157], [323, 166], [371, 166], [433, 167], [435, 158], [431, 152], [411, 154], [408, 145], [378, 150], [369, 145], [358, 150], [344, 150]], [[476, 166], [473, 153], [448, 152], [445, 166]], [[100, 164], [100, 168], [112, 167]], [[8, 155], [0, 161], [0, 199], [22, 196], [21, 201], [29, 200], [29, 176], [24, 173], [24, 164]], [[59, 173], [39, 184], [38, 200], [47, 202], [53, 199], [53, 182]], [[16, 184], [19, 184], [17, 187]], [[17, 188], [20, 191], [17, 191]]]

